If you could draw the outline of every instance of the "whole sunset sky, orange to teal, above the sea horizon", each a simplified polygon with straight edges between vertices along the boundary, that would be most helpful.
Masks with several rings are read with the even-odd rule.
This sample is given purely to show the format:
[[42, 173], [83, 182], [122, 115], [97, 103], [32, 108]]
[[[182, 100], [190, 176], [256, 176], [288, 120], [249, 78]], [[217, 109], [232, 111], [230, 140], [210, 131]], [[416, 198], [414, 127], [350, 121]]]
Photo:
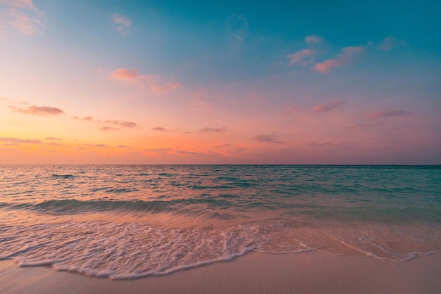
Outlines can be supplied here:
[[0, 0], [0, 164], [439, 165], [440, 10]]

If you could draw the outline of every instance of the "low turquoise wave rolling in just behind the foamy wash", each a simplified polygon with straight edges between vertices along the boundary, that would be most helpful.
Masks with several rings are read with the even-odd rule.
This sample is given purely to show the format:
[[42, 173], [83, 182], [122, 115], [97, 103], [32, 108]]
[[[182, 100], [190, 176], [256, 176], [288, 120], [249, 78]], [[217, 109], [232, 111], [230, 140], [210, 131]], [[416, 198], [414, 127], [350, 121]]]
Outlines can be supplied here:
[[[121, 192], [123, 193], [123, 192]], [[166, 198], [163, 198], [166, 199]], [[285, 207], [283, 207], [285, 206]], [[170, 200], [47, 200], [42, 203], [0, 203], [1, 209], [33, 210], [45, 214], [75, 215], [85, 212], [175, 212], [186, 215], [234, 219], [236, 215], [255, 215], [273, 211], [280, 217], [306, 217], [309, 219], [337, 220], [341, 222], [441, 224], [441, 208], [437, 207], [325, 207], [321, 205], [283, 205], [271, 201], [245, 201], [230, 194], [217, 197], [180, 198]], [[219, 216], [218, 212], [223, 211]]]

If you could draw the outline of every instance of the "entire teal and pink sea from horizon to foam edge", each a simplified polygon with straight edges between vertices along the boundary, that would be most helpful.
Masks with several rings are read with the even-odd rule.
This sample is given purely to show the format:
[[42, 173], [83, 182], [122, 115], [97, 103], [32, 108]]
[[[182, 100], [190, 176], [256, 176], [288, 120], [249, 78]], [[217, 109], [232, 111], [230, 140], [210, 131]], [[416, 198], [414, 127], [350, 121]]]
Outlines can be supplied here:
[[441, 252], [441, 166], [0, 166], [0, 260], [132, 279], [252, 250]]

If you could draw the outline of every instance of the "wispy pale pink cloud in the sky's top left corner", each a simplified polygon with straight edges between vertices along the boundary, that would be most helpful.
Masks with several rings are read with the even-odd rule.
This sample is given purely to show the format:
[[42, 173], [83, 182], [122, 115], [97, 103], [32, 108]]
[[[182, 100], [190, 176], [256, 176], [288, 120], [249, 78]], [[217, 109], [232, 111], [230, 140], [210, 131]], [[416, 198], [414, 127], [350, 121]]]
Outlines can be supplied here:
[[22, 34], [35, 34], [43, 27], [45, 15], [32, 0], [0, 0], [1, 26], [11, 27]]

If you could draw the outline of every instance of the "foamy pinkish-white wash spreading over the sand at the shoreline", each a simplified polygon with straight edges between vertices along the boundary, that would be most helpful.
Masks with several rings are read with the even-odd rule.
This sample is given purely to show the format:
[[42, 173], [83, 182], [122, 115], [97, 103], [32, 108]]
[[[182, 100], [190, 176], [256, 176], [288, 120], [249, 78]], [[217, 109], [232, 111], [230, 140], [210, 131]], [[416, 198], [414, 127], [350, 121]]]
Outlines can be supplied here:
[[441, 252], [441, 230], [421, 226], [293, 227], [280, 222], [224, 228], [166, 228], [139, 223], [65, 222], [0, 225], [0, 260], [51, 265], [109, 279], [170, 274], [250, 251], [326, 253], [406, 261]]

